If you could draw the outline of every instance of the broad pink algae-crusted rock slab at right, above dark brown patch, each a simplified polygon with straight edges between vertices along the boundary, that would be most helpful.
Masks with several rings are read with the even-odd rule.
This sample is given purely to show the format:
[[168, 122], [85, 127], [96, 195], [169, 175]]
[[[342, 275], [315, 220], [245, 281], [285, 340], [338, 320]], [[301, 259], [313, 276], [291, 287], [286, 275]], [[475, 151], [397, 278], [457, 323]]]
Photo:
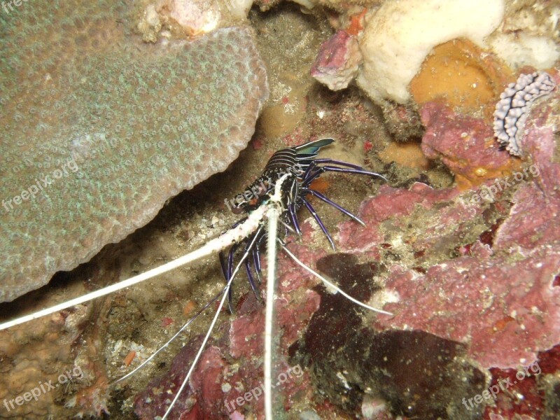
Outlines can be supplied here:
[[545, 250], [518, 262], [465, 256], [424, 275], [395, 267], [386, 290], [399, 302], [384, 307], [395, 316], [376, 324], [467, 343], [483, 367], [526, 365], [560, 341], [560, 289], [552, 287], [559, 267], [560, 251]]

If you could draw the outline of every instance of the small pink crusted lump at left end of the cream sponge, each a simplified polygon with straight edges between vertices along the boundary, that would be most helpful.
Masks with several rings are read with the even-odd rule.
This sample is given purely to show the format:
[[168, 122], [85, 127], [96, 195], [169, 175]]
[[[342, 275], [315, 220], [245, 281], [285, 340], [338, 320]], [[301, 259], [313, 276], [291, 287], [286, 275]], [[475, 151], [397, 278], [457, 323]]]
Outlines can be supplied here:
[[330, 90], [341, 90], [356, 77], [361, 61], [356, 37], [340, 30], [321, 45], [311, 76]]

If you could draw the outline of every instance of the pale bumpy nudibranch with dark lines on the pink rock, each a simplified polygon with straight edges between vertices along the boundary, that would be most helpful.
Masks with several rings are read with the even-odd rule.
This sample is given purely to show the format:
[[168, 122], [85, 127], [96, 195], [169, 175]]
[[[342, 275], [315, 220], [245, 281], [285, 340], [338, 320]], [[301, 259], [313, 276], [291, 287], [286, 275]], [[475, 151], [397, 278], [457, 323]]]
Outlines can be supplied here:
[[519, 140], [523, 136], [531, 104], [536, 98], [552, 92], [554, 87], [556, 83], [548, 73], [535, 71], [521, 74], [500, 94], [494, 111], [494, 136], [511, 155], [521, 156]]

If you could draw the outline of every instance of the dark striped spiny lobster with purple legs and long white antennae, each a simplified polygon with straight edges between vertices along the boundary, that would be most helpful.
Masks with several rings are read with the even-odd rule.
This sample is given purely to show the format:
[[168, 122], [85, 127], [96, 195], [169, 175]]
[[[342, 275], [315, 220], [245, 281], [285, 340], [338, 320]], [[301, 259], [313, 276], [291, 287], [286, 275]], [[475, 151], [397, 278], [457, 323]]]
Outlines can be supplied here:
[[[269, 163], [265, 168], [265, 172], [263, 172], [261, 178], [257, 180], [259, 183], [262, 183], [262, 179], [266, 179], [267, 181], [266, 185], [269, 186], [269, 188], [267, 188], [266, 190], [258, 191], [255, 200], [251, 202], [241, 202], [239, 204], [239, 207], [243, 208], [244, 211], [248, 211], [248, 216], [246, 216], [246, 218], [241, 219], [239, 223], [236, 223], [236, 225], [234, 225], [234, 228], [232, 230], [229, 230], [221, 237], [209, 241], [209, 243], [203, 246], [202, 249], [199, 249], [194, 253], [185, 255], [182, 258], [178, 258], [177, 260], [170, 262], [166, 265], [163, 265], [162, 267], [159, 267], [155, 270], [150, 270], [152, 274], [153, 272], [161, 273], [170, 270], [174, 267], [178, 267], [182, 263], [186, 263], [190, 260], [200, 258], [200, 255], [204, 255], [205, 253], [211, 251], [219, 251], [220, 249], [227, 248], [228, 246], [230, 246], [232, 242], [236, 243], [237, 246], [241, 244], [245, 244], [246, 245], [245, 251], [241, 256], [239, 262], [237, 262], [237, 266], [235, 270], [232, 270], [232, 267], [233, 267], [233, 261], [235, 260], [235, 251], [237, 248], [236, 245], [234, 245], [234, 247], [230, 249], [230, 253], [228, 256], [228, 263], [223, 265], [224, 274], [226, 276], [226, 279], [228, 279], [228, 286], [226, 286], [223, 289], [223, 295], [222, 293], [218, 293], [218, 295], [216, 295], [216, 297], [214, 297], [214, 299], [211, 300], [211, 302], [214, 302], [214, 300], [218, 299], [218, 297], [222, 295], [220, 308], [218, 308], [218, 311], [216, 311], [216, 315], [214, 316], [214, 321], [213, 321], [213, 325], [214, 325], [214, 323], [216, 322], [216, 318], [218, 318], [218, 315], [220, 313], [220, 309], [225, 302], [225, 298], [227, 296], [230, 296], [228, 290], [233, 279], [235, 278], [235, 274], [239, 270], [239, 267], [241, 267], [241, 263], [243, 263], [244, 260], [246, 259], [251, 259], [255, 267], [255, 273], [258, 274], [260, 272], [260, 256], [259, 256], [260, 248], [255, 246], [255, 244], [258, 241], [262, 241], [262, 239], [265, 238], [265, 234], [264, 234], [265, 228], [263, 226], [263, 220], [265, 218], [269, 218], [274, 221], [275, 219], [273, 217], [274, 211], [277, 211], [276, 221], [278, 221], [277, 217], [279, 216], [279, 221], [286, 230], [299, 232], [300, 226], [297, 221], [297, 216], [295, 216], [295, 211], [297, 211], [297, 209], [300, 209], [301, 207], [306, 207], [310, 211], [311, 216], [313, 216], [314, 220], [320, 226], [323, 233], [329, 239], [330, 244], [334, 247], [332, 238], [330, 237], [328, 231], [326, 230], [325, 226], [321, 222], [321, 218], [319, 218], [319, 216], [317, 216], [316, 212], [314, 211], [314, 207], [312, 207], [312, 205], [307, 200], [306, 198], [307, 195], [314, 195], [315, 197], [319, 197], [321, 200], [323, 200], [323, 202], [331, 204], [333, 207], [335, 207], [335, 209], [342, 211], [342, 213], [346, 214], [347, 216], [350, 216], [356, 221], [359, 221], [359, 219], [356, 218], [356, 216], [353, 216], [353, 214], [351, 214], [346, 209], [338, 206], [337, 204], [329, 200], [321, 193], [318, 193], [317, 191], [313, 190], [310, 187], [311, 181], [314, 181], [314, 179], [318, 178], [318, 176], [323, 174], [323, 172], [346, 172], [350, 174], [364, 174], [370, 176], [378, 176], [382, 179], [383, 177], [379, 176], [378, 174], [374, 174], [372, 172], [367, 172], [364, 169], [358, 167], [357, 165], [351, 165], [345, 162], [329, 160], [329, 159], [314, 159], [316, 158], [316, 152], [318, 151], [318, 149], [322, 148], [323, 146], [328, 146], [328, 144], [331, 144], [332, 141], [333, 141], [332, 139], [321, 139], [318, 141], [309, 142], [308, 144], [304, 144], [302, 146], [296, 146], [295, 148], [283, 149], [275, 153], [272, 156], [272, 158], [269, 160]], [[292, 169], [295, 166], [298, 167], [298, 171], [294, 170], [293, 172], [290, 173], [289, 171], [285, 170], [287, 168]], [[257, 181], [255, 181], [255, 183]], [[276, 228], [272, 228], [272, 230], [271, 228], [269, 228], [269, 231], [276, 232]], [[269, 238], [268, 246], [269, 248], [272, 248], [272, 246], [276, 244], [275, 235], [268, 235], [268, 238]], [[270, 240], [271, 238], [272, 240]], [[281, 247], [284, 248], [283, 243], [281, 243]], [[297, 260], [295, 255], [293, 255], [289, 251], [287, 252], [292, 258], [295, 259], [296, 262], [298, 262], [303, 267], [307, 267], [302, 262]], [[272, 255], [274, 255], [274, 253], [272, 253]], [[274, 262], [274, 258], [272, 258], [272, 261]], [[272, 267], [272, 274], [269, 274], [269, 278], [274, 279], [274, 263], [270, 264], [269, 262], [269, 273], [271, 272], [270, 267]], [[309, 267], [307, 267], [307, 269], [309, 269]], [[252, 286], [254, 290], [255, 285], [251, 276], [251, 267], [249, 267], [249, 265], [246, 265], [246, 270], [248, 272], [248, 279], [250, 280], [251, 283], [253, 283]], [[309, 271], [312, 272], [311, 269], [309, 269]], [[22, 318], [18, 318], [15, 321], [3, 323], [1, 325], [1, 328], [8, 328], [10, 326], [17, 325], [27, 320], [38, 318], [39, 316], [43, 316], [45, 314], [52, 314], [52, 312], [54, 311], [59, 311], [61, 309], [70, 307], [80, 302], [86, 302], [87, 300], [90, 300], [94, 297], [99, 297], [101, 295], [111, 293], [112, 291], [118, 290], [126, 286], [130, 286], [134, 283], [141, 281], [142, 279], [146, 279], [149, 277], [150, 274], [147, 273], [141, 274], [133, 279], [129, 279], [128, 281], [121, 282], [118, 285], [113, 285], [113, 286], [109, 286], [108, 288], [104, 288], [102, 290], [97, 290], [96, 292], [91, 293], [90, 295], [86, 295], [85, 297], [76, 298], [69, 302], [59, 304], [48, 310], [39, 311], [36, 314], [31, 314], [30, 316], [27, 317], [25, 316]], [[323, 279], [323, 281], [326, 280]], [[274, 281], [268, 282], [269, 286], [273, 284]], [[332, 284], [330, 284], [330, 286], [335, 287]], [[269, 290], [267, 292], [268, 297], [273, 296], [272, 291], [273, 290]], [[351, 297], [349, 297], [349, 299], [353, 300]], [[211, 302], [207, 303], [207, 305], [203, 309], [201, 309], [201, 311], [209, 307], [209, 304], [211, 304]], [[353, 300], [353, 302], [360, 304], [360, 302], [357, 302], [356, 300]], [[361, 304], [361, 305], [367, 307], [367, 305], [365, 304]], [[268, 304], [267, 308], [272, 308], [272, 304]], [[367, 307], [367, 308], [375, 310], [371, 307]], [[380, 311], [380, 312], [387, 314], [384, 311]], [[270, 314], [268, 314], [267, 316], [270, 318]], [[195, 316], [194, 318], [196, 317], [197, 316]], [[187, 323], [187, 325], [189, 324], [190, 321]], [[272, 325], [272, 318], [270, 318], [267, 325]], [[185, 327], [183, 327], [183, 329], [184, 328]], [[207, 336], [205, 337], [204, 342], [207, 341], [210, 333], [211, 333], [211, 328], [209, 329], [209, 332], [207, 332]], [[270, 337], [270, 335], [271, 335], [270, 332], [267, 332], [267, 336]], [[165, 346], [167, 346], [167, 344]], [[198, 356], [200, 356], [203, 346], [204, 344], [201, 346]], [[155, 356], [155, 354], [153, 356]], [[151, 360], [151, 358], [148, 360]], [[195, 363], [196, 360], [193, 363], [193, 365], [191, 365], [191, 371], [193, 370], [193, 367], [195, 367]], [[270, 379], [270, 373], [265, 375], [265, 378], [266, 377]], [[183, 381], [183, 386], [184, 384], [186, 384], [187, 380], [188, 380], [188, 376]], [[268, 386], [267, 389], [270, 389], [270, 386]], [[176, 394], [176, 396], [178, 397], [179, 395], [180, 395], [180, 391], [179, 393]], [[269, 411], [270, 411], [270, 407], [269, 407]], [[169, 410], [166, 412], [164, 418], [167, 416], [167, 414], [169, 414]], [[272, 414], [269, 414], [268, 418], [272, 418]]]

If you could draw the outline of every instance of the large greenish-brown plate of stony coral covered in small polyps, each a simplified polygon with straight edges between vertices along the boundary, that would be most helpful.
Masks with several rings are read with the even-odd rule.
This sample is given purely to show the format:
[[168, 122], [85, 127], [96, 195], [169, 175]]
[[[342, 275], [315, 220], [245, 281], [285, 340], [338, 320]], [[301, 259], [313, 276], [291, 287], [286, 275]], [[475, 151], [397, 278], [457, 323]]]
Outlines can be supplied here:
[[268, 87], [250, 31], [145, 45], [122, 4], [0, 15], [0, 301], [123, 239], [253, 134]]

